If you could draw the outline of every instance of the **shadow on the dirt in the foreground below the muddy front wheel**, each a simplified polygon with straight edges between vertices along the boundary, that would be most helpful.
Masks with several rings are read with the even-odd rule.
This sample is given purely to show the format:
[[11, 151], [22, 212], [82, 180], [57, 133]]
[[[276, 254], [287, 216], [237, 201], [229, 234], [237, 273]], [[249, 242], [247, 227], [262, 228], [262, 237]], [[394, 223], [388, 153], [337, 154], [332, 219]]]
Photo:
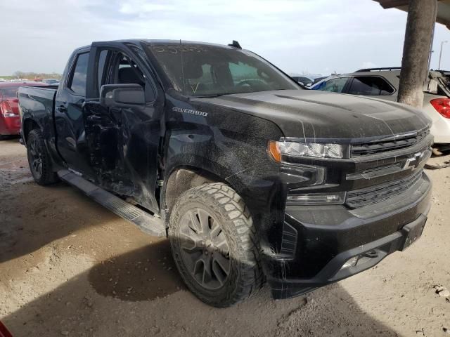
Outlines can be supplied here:
[[[11, 294], [15, 296], [15, 294]], [[185, 290], [167, 240], [110, 260], [4, 317], [14, 336], [399, 336], [339, 284], [217, 309]]]

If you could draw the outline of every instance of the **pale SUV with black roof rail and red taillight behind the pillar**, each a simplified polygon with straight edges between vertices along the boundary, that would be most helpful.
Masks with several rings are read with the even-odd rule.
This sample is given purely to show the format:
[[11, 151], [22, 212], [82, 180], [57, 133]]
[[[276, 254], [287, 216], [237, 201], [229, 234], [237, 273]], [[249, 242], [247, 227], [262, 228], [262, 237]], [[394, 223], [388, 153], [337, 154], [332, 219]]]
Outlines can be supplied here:
[[[397, 102], [400, 68], [361, 69], [350, 74], [327, 77], [311, 86], [312, 90], [373, 96]], [[424, 88], [423, 111], [432, 119], [435, 153], [450, 149], [450, 76], [430, 71]]]

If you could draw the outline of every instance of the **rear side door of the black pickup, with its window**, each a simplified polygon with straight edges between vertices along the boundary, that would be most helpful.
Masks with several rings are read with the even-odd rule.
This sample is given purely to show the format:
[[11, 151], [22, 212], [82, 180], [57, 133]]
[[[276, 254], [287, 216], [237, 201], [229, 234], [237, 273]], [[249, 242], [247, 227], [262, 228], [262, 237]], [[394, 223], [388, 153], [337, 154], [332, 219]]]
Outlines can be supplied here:
[[58, 90], [55, 102], [56, 144], [69, 168], [94, 178], [89, 164], [89, 149], [84, 132], [82, 107], [86, 99], [86, 83], [90, 80], [90, 50], [84, 48], [72, 55], [72, 62], [65, 70], [63, 86]]

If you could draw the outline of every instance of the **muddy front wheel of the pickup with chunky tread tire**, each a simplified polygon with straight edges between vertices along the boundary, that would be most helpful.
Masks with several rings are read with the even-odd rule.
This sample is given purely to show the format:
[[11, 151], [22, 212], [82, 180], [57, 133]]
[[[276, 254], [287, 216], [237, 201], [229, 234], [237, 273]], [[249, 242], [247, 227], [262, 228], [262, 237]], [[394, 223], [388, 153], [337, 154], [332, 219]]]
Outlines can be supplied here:
[[[208, 215], [210, 239], [203, 241], [207, 230], [195, 231], [193, 225], [196, 224], [195, 229], [198, 226], [202, 228], [205, 221], [202, 222], [200, 217], [205, 218], [205, 213]], [[198, 222], [192, 218], [193, 214]], [[191, 225], [186, 225], [188, 223]], [[190, 237], [186, 236], [186, 231]], [[176, 201], [170, 216], [169, 239], [181, 277], [195, 296], [219, 308], [252, 296], [264, 284], [255, 236], [248, 208], [240, 196], [224, 183], [205, 184], [184, 192]], [[195, 241], [197, 237], [203, 239]], [[217, 243], [217, 240], [221, 241]], [[205, 261], [204, 254], [208, 254], [208, 251], [210, 257]], [[200, 256], [195, 260], [195, 254], [198, 253]], [[192, 260], [195, 262], [190, 263]], [[206, 267], [207, 264], [210, 267]], [[199, 266], [203, 266], [203, 271], [198, 271]], [[208, 268], [209, 274], [205, 272]], [[205, 275], [209, 275], [206, 277], [209, 283], [205, 282]]]

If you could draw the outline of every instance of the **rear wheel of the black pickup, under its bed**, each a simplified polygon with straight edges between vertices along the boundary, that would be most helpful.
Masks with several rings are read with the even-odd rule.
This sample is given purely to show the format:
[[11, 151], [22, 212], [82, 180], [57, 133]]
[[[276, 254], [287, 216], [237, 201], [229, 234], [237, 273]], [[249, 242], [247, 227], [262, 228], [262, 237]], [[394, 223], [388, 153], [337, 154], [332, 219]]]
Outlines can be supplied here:
[[47, 152], [44, 138], [38, 129], [34, 129], [27, 136], [27, 157], [34, 181], [39, 185], [50, 185], [58, 181], [53, 172], [51, 158]]

